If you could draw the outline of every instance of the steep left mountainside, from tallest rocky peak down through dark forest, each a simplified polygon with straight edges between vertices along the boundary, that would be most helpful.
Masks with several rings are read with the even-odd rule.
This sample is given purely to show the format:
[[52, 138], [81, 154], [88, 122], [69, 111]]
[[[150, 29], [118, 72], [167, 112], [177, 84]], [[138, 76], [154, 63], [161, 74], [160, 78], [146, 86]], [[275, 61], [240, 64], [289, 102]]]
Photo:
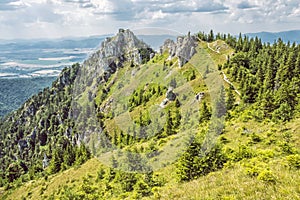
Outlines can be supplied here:
[[22, 180], [30, 180], [45, 174], [48, 166], [51, 174], [88, 159], [84, 142], [95, 124], [91, 119], [86, 126], [85, 119], [89, 108], [95, 108], [96, 95], [89, 88], [106, 82], [125, 63], [146, 62], [151, 52], [132, 32], [120, 30], [82, 65], [64, 69], [51, 88], [5, 117], [0, 124], [0, 184], [10, 187], [23, 174]]

